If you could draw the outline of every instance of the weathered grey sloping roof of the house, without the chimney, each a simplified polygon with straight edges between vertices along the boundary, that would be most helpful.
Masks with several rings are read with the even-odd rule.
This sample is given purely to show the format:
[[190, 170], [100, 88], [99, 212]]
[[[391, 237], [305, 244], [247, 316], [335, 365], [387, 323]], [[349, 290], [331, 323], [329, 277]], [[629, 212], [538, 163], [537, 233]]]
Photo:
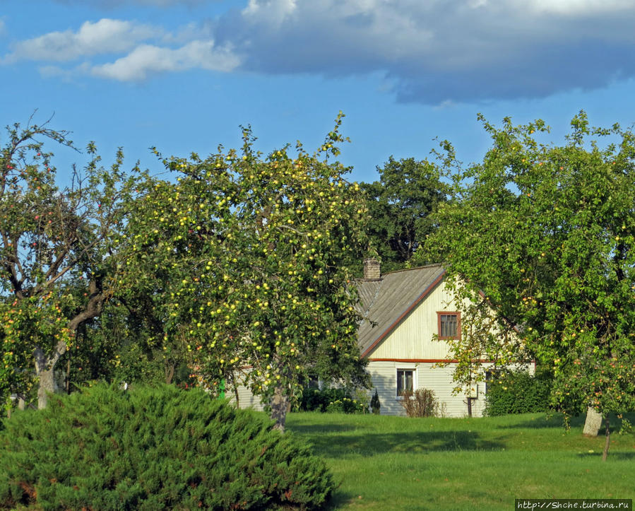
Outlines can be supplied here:
[[360, 312], [364, 316], [357, 330], [362, 357], [368, 353], [425, 299], [445, 275], [441, 264], [393, 271], [379, 280], [357, 280]]

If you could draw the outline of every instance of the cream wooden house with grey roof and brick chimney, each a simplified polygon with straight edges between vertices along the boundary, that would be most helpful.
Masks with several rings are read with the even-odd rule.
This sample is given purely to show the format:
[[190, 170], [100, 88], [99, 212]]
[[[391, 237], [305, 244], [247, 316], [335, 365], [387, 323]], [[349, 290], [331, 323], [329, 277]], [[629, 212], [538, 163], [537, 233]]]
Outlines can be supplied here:
[[358, 338], [382, 414], [403, 415], [400, 394], [425, 388], [446, 416], [466, 416], [468, 399], [473, 416], [482, 415], [485, 382], [473, 384], [469, 396], [453, 394], [456, 363], [439, 366], [448, 360], [443, 339], [461, 334], [461, 310], [444, 286], [445, 275], [441, 264], [381, 275], [379, 262], [364, 261], [364, 278], [356, 282], [364, 316]]

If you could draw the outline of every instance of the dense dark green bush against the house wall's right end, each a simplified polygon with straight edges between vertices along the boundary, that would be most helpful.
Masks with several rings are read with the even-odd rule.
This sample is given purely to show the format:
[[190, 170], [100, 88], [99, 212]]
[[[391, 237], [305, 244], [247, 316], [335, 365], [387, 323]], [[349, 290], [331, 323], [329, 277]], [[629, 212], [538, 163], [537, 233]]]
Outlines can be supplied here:
[[502, 372], [487, 382], [485, 415], [547, 411], [552, 375], [527, 371]]

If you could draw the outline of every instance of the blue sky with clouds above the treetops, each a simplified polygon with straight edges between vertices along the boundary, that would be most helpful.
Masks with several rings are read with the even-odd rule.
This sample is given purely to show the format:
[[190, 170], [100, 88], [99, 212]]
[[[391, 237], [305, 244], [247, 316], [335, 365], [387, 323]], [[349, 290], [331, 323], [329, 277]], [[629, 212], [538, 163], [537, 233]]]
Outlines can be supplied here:
[[[571, 118], [635, 122], [632, 0], [0, 0], [0, 124], [71, 131], [105, 163], [124, 148], [164, 155], [240, 146], [269, 153], [350, 138], [351, 178], [388, 158], [432, 158], [447, 139], [465, 164], [500, 125]], [[0, 132], [0, 145], [6, 138]], [[59, 175], [88, 161], [51, 149]]]

